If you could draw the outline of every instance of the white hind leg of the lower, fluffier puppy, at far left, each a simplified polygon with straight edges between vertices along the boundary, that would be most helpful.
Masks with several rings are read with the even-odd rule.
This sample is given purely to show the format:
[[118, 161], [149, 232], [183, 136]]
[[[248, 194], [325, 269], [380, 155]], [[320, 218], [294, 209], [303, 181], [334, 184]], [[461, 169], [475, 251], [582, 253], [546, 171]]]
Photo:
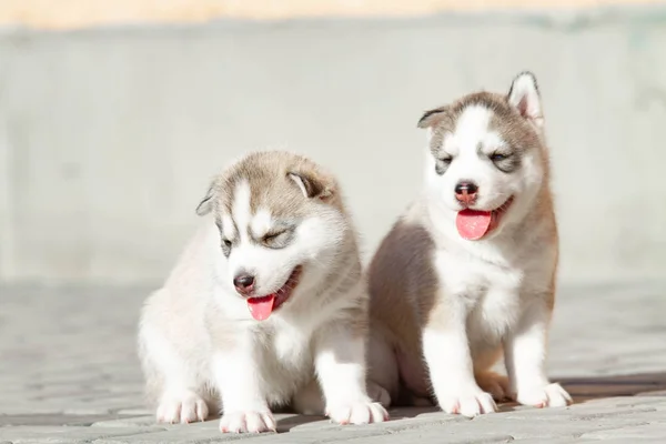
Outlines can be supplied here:
[[198, 369], [179, 355], [159, 332], [142, 326], [141, 361], [149, 390], [159, 392], [157, 420], [162, 423], [205, 421], [209, 407], [201, 396]]

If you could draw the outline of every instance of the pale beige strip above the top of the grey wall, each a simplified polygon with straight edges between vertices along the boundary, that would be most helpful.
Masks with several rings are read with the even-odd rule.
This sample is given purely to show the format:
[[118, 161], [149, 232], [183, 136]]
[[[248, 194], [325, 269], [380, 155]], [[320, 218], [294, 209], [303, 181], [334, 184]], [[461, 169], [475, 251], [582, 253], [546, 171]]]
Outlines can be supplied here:
[[216, 18], [422, 16], [443, 10], [592, 8], [665, 0], [3, 0], [0, 26], [70, 29], [128, 22], [198, 22]]

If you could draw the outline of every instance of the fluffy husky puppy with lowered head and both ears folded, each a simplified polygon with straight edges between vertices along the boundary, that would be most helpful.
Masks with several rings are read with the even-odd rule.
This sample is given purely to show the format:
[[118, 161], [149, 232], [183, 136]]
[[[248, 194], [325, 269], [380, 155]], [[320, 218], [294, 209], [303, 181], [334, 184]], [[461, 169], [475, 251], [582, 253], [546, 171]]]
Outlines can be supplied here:
[[263, 432], [286, 404], [343, 424], [386, 420], [366, 394], [369, 297], [334, 178], [300, 155], [256, 152], [196, 212], [201, 231], [141, 314], [158, 420], [221, 408], [222, 432]]

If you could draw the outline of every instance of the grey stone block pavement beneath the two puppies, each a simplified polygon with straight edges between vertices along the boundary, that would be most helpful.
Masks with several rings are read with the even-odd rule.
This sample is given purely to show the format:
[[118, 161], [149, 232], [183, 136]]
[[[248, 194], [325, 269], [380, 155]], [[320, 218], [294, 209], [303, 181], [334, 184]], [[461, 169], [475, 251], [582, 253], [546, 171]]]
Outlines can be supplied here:
[[336, 426], [279, 415], [279, 434], [222, 435], [216, 421], [159, 425], [142, 404], [134, 350], [145, 289], [0, 286], [0, 444], [666, 443], [666, 282], [564, 286], [549, 370], [567, 408], [504, 405], [474, 420], [395, 410]]

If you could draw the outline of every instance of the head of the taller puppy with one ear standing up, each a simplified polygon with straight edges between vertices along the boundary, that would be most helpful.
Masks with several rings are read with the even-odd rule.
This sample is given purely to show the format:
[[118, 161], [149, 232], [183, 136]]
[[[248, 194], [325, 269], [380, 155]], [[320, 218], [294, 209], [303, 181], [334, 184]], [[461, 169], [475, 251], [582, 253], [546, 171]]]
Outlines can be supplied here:
[[529, 72], [506, 95], [477, 92], [423, 114], [427, 188], [461, 236], [491, 239], [529, 211], [547, 174], [543, 122]]

